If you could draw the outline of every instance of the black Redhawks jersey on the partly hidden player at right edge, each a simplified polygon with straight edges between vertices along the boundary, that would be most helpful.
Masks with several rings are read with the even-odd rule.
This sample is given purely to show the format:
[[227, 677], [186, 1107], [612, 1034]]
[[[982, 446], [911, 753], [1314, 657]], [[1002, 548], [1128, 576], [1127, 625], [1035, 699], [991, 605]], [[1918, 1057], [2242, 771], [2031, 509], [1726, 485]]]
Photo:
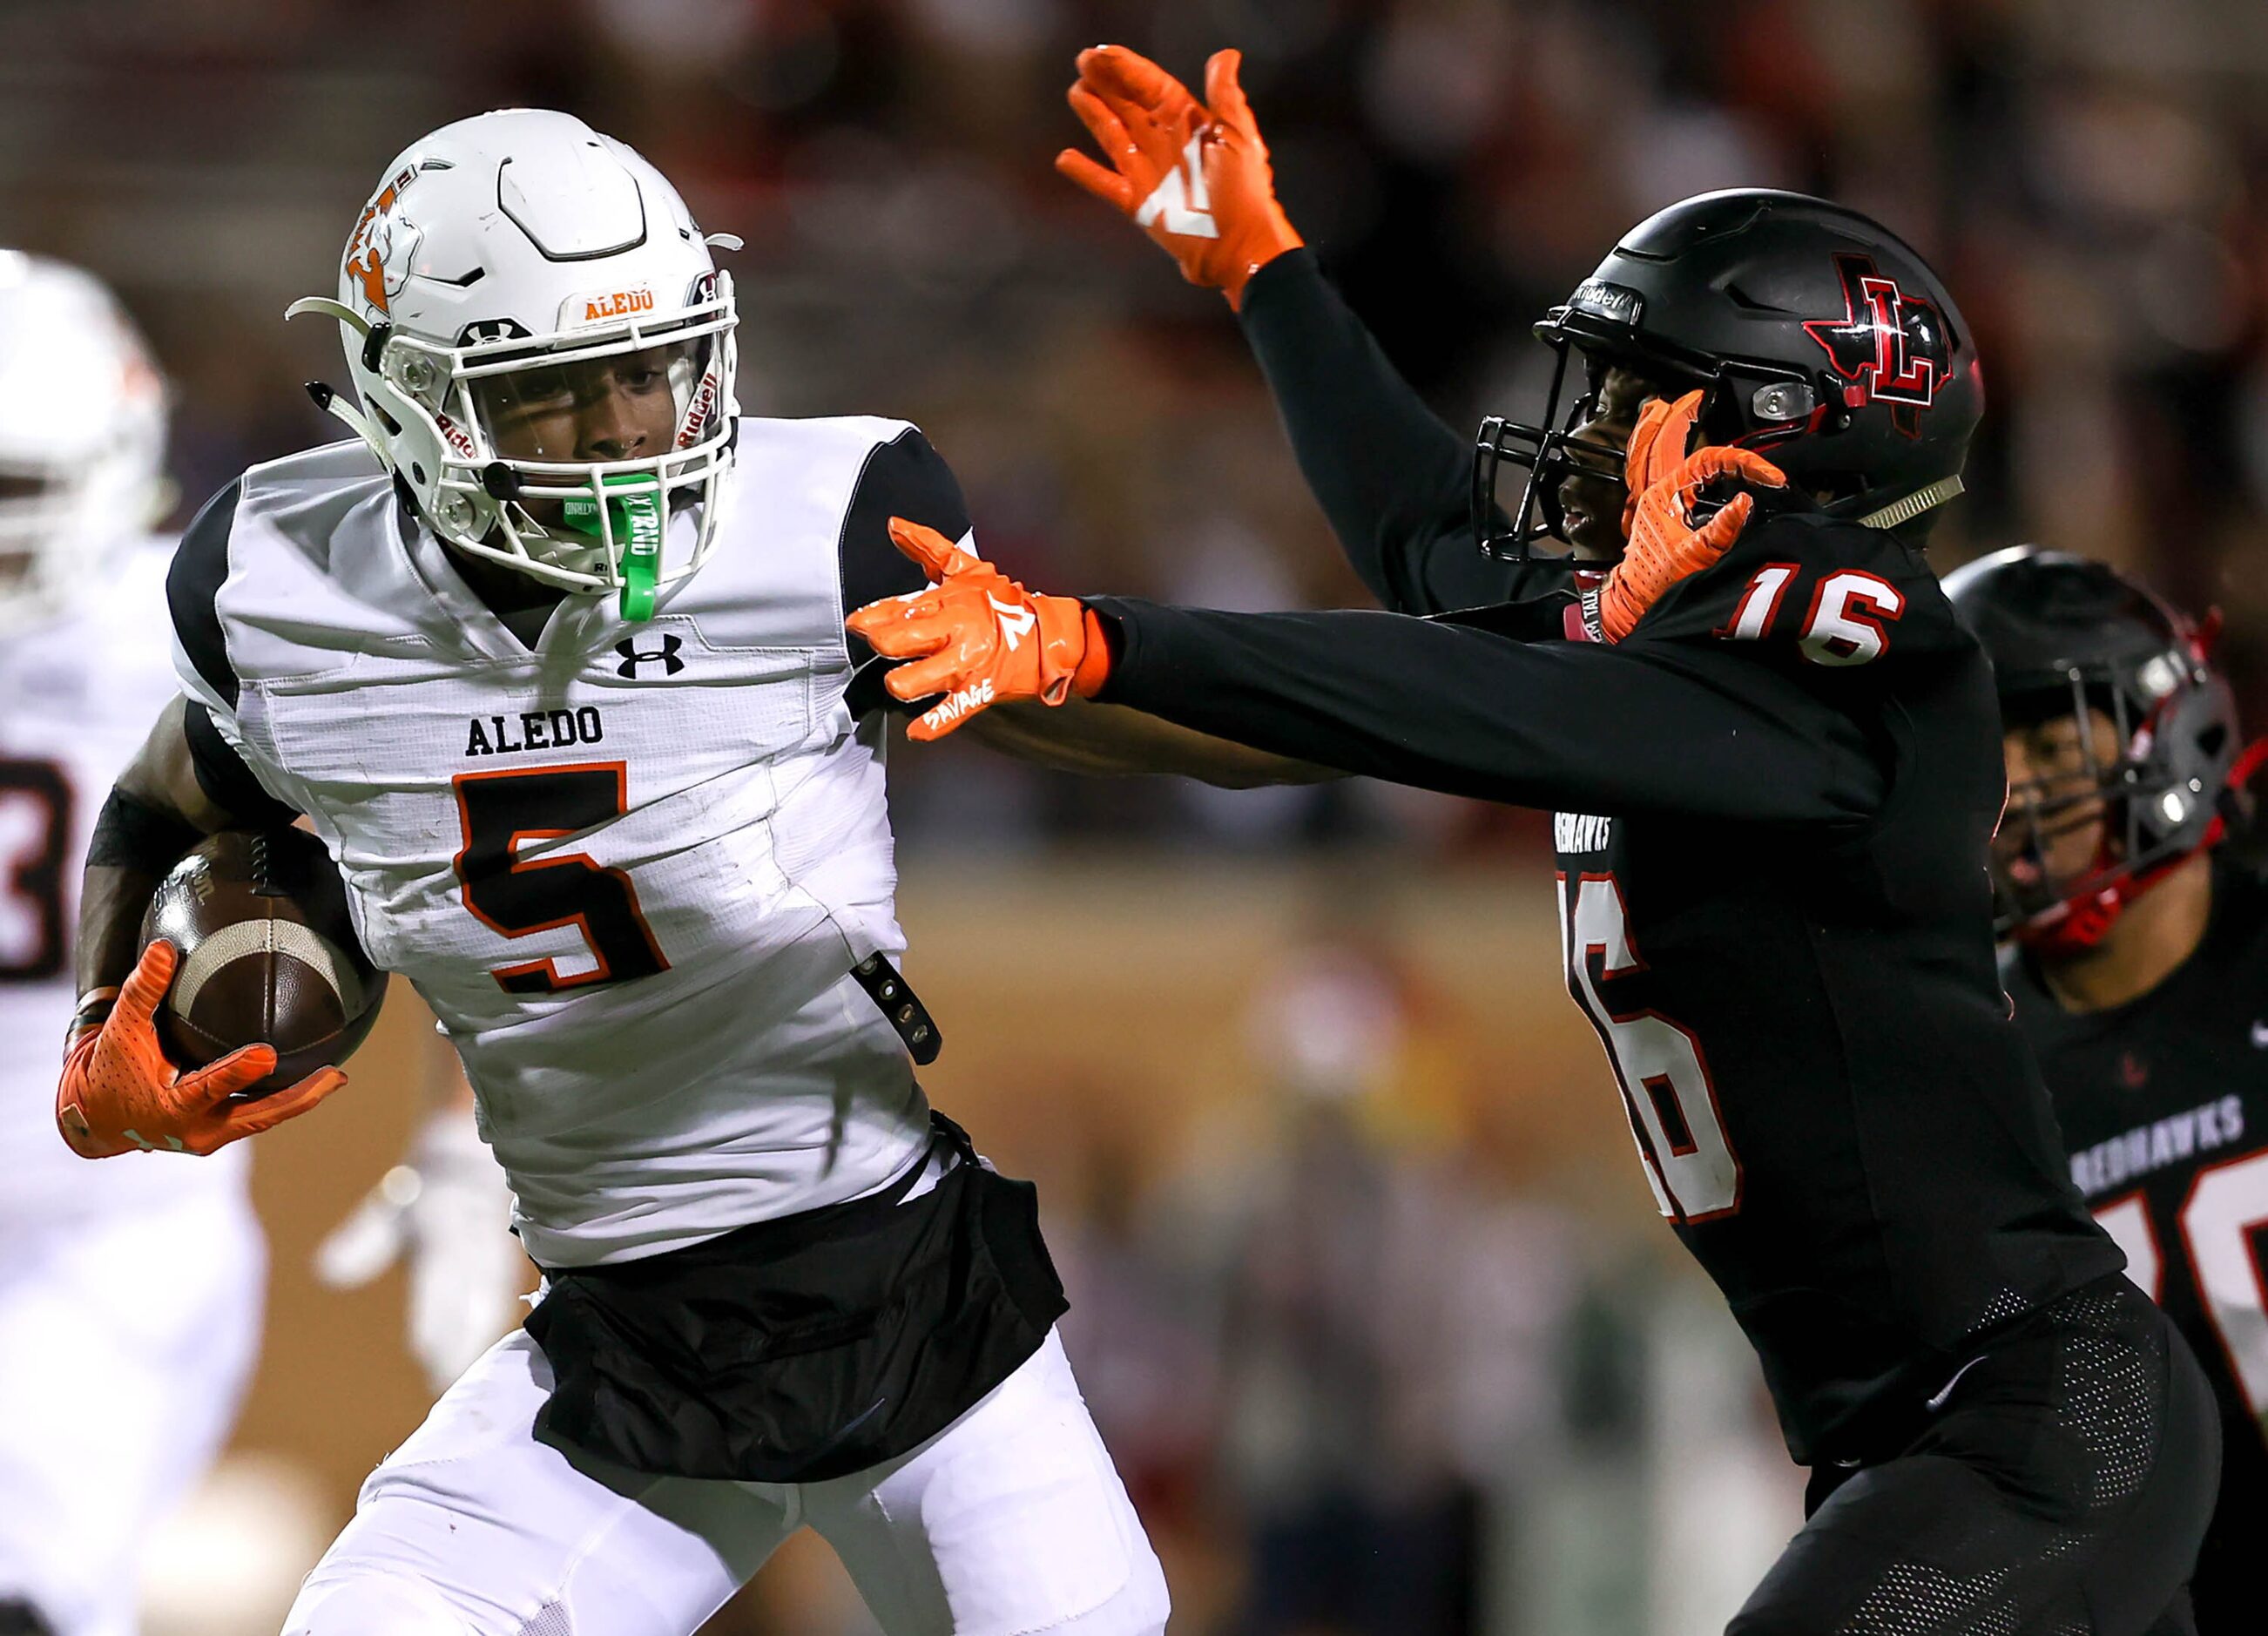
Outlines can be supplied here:
[[2066, 1012], [2021, 955], [2003, 976], [2055, 1096], [2071, 1180], [2220, 1400], [2198, 1629], [2254, 1629], [2268, 1538], [2268, 874], [2216, 853], [2204, 942], [2127, 1005]]

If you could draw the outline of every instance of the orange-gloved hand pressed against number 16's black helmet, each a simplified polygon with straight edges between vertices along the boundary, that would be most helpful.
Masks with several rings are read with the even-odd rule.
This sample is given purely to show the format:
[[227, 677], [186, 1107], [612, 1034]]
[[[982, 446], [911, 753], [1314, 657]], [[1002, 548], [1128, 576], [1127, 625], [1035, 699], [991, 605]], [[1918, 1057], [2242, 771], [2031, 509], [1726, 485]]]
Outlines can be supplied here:
[[1712, 445], [1687, 454], [1699, 413], [1701, 393], [1687, 393], [1674, 404], [1656, 397], [1631, 431], [1624, 456], [1631, 499], [1622, 508], [1628, 545], [1599, 592], [1599, 631], [1608, 642], [1626, 638], [1647, 608], [1681, 579], [1715, 565], [1749, 526], [1753, 495], [1733, 495], [1712, 517], [1694, 517], [1708, 483], [1737, 479], [1760, 488], [1787, 486], [1780, 467], [1749, 449]]

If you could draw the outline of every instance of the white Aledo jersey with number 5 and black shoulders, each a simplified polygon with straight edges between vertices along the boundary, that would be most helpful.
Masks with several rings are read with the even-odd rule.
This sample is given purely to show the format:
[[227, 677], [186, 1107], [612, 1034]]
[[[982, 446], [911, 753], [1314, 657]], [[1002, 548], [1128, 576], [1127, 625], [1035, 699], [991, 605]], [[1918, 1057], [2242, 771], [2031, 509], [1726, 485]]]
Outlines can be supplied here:
[[903, 422], [744, 420], [708, 565], [642, 624], [569, 597], [533, 649], [361, 445], [254, 467], [191, 526], [181, 681], [440, 1017], [540, 1264], [853, 1198], [928, 1141], [850, 978], [905, 937], [844, 542], [907, 452], [943, 472]]

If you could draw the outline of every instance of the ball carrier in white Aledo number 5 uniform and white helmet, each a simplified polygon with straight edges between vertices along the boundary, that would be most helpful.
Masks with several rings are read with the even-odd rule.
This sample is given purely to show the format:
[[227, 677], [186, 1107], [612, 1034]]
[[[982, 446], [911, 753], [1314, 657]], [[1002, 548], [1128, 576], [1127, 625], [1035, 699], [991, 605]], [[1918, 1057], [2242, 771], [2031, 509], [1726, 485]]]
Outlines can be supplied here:
[[[733, 413], [735, 306], [676, 191], [581, 120], [404, 152], [338, 320], [358, 436], [259, 465], [170, 574], [186, 708], [88, 871], [86, 1155], [215, 1150], [254, 1046], [177, 1076], [134, 926], [191, 830], [304, 815], [440, 1017], [547, 1273], [365, 1484], [293, 1636], [696, 1629], [801, 1525], [891, 1636], [1159, 1631], [1157, 1557], [1055, 1339], [1032, 1189], [932, 1114], [894, 960], [880, 676], [844, 613], [968, 538], [891, 420]], [[1100, 706], [998, 737], [1286, 776]]]

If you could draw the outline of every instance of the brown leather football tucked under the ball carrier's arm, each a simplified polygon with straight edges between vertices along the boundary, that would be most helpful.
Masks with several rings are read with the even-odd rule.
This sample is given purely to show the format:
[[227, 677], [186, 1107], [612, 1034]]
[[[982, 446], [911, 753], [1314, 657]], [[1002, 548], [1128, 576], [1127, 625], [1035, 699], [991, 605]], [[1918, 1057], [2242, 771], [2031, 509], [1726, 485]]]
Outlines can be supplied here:
[[274, 1073], [245, 1096], [345, 1062], [386, 998], [386, 973], [354, 935], [338, 867], [306, 830], [206, 837], [150, 899], [143, 948], [159, 937], [179, 953], [156, 1012], [159, 1044], [181, 1069], [238, 1046], [274, 1046]]

